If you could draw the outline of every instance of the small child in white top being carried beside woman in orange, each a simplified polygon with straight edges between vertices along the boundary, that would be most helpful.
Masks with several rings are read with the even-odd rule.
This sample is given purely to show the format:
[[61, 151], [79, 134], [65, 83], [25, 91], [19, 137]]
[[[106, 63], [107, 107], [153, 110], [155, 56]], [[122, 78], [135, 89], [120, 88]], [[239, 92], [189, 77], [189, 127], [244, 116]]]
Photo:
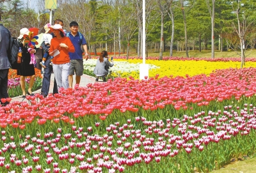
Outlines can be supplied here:
[[[51, 24], [45, 24], [44, 26], [44, 29], [45, 29], [45, 33], [43, 34], [43, 41], [45, 43], [45, 47], [47, 48], [50, 48], [50, 45], [51, 45], [51, 40], [52, 40], [52, 34], [51, 33], [51, 30], [50, 28], [51, 27]], [[43, 67], [43, 68], [46, 68], [45, 66], [45, 61], [47, 60], [47, 58], [49, 57], [49, 52], [48, 51], [45, 51], [44, 53], [44, 56], [43, 56], [43, 61], [40, 62], [40, 65]], [[50, 57], [51, 58], [51, 63], [50, 65], [52, 66], [52, 56]]]

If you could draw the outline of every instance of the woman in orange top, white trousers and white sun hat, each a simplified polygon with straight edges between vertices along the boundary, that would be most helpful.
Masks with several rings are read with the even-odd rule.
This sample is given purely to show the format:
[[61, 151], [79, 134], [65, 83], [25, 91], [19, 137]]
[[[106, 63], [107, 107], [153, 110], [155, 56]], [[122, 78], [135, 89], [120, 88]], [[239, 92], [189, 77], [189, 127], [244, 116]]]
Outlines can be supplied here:
[[68, 52], [75, 52], [75, 47], [65, 33], [60, 24], [54, 24], [50, 27], [54, 38], [51, 40], [49, 55], [53, 56], [52, 70], [60, 87], [68, 88], [68, 69], [70, 67], [70, 58]]

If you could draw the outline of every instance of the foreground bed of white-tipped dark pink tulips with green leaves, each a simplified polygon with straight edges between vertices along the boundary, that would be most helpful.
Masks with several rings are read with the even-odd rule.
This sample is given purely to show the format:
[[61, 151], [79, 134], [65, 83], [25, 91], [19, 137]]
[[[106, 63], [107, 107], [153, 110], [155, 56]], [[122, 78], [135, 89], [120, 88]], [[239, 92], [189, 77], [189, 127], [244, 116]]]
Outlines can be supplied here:
[[36, 135], [8, 127], [0, 134], [0, 170], [207, 172], [256, 147], [256, 108], [250, 103], [158, 121], [131, 117], [124, 124], [106, 125], [99, 135], [104, 123], [47, 128]]

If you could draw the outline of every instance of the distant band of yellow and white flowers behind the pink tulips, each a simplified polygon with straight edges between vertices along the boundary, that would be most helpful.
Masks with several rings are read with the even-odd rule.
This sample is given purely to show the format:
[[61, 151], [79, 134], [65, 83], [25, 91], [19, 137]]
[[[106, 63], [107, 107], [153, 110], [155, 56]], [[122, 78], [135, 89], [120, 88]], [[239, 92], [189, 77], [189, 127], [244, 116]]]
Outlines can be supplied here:
[[[166, 77], [173, 75], [173, 77], [186, 77], [186, 75], [194, 76], [204, 73], [209, 76], [212, 71], [216, 69], [228, 69], [228, 68], [239, 68], [241, 63], [236, 61], [235, 58], [222, 58], [214, 59], [166, 59], [166, 61], [158, 61], [154, 59], [148, 59], [146, 63], [148, 64], [148, 74], [150, 77], [159, 75], [159, 77]], [[218, 61], [217, 61], [218, 60]], [[249, 59], [248, 59], [249, 60]], [[254, 67], [256, 68], [256, 62], [247, 61], [244, 67]], [[92, 75], [95, 68], [97, 59], [88, 59], [84, 61], [84, 73], [87, 75]], [[163, 63], [164, 62], [164, 63]], [[133, 77], [134, 79], [140, 78], [140, 64], [141, 59], [114, 59], [114, 66], [110, 68], [111, 77], [123, 77], [129, 79]]]

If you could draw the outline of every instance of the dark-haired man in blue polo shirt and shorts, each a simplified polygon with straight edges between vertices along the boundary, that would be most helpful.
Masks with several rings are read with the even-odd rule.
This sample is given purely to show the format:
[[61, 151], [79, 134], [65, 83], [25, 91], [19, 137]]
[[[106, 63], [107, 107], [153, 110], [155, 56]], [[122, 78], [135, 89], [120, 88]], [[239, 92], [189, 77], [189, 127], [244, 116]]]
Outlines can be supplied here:
[[76, 51], [74, 53], [70, 53], [70, 68], [69, 68], [69, 75], [68, 75], [68, 83], [69, 87], [72, 88], [73, 85], [73, 75], [76, 71], [76, 84], [80, 84], [81, 75], [83, 75], [84, 71], [84, 64], [83, 64], [83, 50], [81, 49], [81, 45], [83, 45], [84, 53], [86, 56], [86, 60], [88, 59], [88, 49], [87, 43], [83, 36], [83, 34], [78, 32], [78, 24], [77, 22], [73, 21], [70, 22], [70, 32], [66, 34], [72, 41]]

